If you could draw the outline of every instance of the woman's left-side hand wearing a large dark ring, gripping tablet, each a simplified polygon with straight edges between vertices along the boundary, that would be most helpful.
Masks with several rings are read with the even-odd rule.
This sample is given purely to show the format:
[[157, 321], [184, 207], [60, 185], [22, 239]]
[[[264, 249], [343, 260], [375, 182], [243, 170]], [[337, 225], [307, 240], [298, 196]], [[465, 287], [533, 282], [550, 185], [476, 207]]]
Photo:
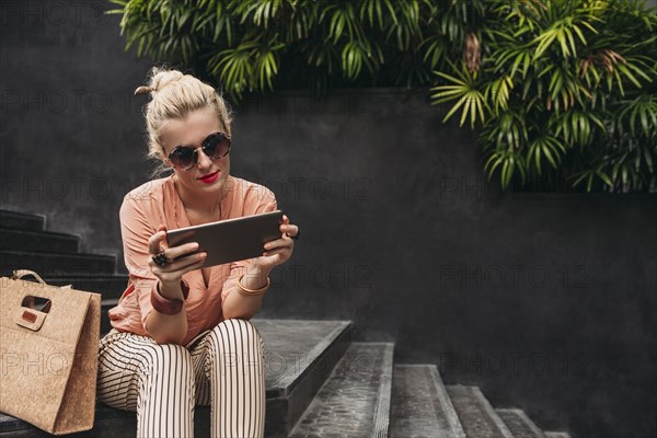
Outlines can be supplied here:
[[[198, 250], [198, 243], [196, 242], [185, 243], [180, 246], [166, 247], [165, 241], [166, 227], [160, 226], [158, 227], [158, 231], [148, 240], [148, 251], [151, 255], [148, 265], [150, 266], [153, 275], [160, 280], [162, 286], [162, 296], [165, 298], [177, 298], [170, 297], [168, 291], [180, 290], [180, 283], [183, 278], [183, 274], [200, 268], [205, 262], [207, 253], [201, 252], [198, 254], [189, 254]], [[153, 255], [158, 255], [160, 253], [164, 254], [169, 261], [169, 263], [164, 264], [163, 266], [158, 265], [152, 258]]]

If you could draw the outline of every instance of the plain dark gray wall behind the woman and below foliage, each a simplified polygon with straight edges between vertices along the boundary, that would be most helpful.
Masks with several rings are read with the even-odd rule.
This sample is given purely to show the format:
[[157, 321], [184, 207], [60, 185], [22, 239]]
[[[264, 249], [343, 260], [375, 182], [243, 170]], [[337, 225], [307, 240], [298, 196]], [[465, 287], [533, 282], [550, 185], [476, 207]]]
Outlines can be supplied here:
[[[146, 181], [150, 64], [104, 2], [1, 3], [2, 208], [120, 258]], [[280, 93], [235, 108], [233, 174], [301, 226], [261, 316], [350, 319], [395, 360], [579, 437], [653, 437], [655, 196], [500, 195], [427, 91]], [[122, 267], [119, 266], [119, 270]]]

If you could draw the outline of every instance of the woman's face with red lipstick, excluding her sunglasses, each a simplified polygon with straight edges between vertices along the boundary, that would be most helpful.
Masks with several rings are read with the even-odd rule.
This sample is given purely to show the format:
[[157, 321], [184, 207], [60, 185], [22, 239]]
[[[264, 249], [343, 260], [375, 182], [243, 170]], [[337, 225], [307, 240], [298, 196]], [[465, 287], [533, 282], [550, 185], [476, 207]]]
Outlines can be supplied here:
[[223, 132], [215, 111], [211, 108], [196, 111], [184, 119], [168, 120], [160, 132], [164, 148], [163, 159], [168, 165], [173, 166], [168, 157], [176, 146], [189, 146], [196, 149], [197, 161], [192, 169], [174, 168], [182, 188], [192, 193], [219, 193], [226, 185], [230, 172], [230, 154], [212, 161], [200, 149], [203, 141], [210, 134]]

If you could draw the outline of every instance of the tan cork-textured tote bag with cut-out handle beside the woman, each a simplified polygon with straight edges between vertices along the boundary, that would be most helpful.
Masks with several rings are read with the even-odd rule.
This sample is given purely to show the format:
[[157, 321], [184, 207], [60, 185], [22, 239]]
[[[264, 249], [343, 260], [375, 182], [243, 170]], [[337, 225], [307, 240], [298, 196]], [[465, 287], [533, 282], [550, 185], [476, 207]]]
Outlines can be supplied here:
[[55, 435], [89, 430], [101, 296], [13, 274], [0, 284], [0, 411]]

